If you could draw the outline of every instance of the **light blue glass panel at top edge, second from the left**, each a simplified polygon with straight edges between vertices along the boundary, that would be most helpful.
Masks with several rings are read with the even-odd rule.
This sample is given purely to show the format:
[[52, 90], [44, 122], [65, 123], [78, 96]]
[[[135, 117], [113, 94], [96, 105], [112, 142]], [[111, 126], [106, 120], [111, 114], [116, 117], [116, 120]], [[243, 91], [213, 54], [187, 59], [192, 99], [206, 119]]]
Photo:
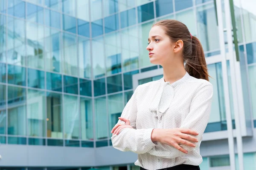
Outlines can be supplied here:
[[25, 2], [21, 0], [8, 0], [8, 14], [25, 18]]

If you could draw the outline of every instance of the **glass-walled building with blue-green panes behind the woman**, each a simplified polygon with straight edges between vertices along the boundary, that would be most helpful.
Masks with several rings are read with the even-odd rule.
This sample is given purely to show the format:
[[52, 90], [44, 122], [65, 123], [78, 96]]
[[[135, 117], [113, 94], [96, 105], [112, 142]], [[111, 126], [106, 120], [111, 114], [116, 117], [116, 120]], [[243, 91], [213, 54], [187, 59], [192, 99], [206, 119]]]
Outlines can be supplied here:
[[110, 131], [134, 89], [163, 76], [146, 51], [160, 19], [199, 38], [212, 77], [201, 169], [256, 170], [256, 1], [233, 5], [0, 0], [0, 170], [139, 170]]

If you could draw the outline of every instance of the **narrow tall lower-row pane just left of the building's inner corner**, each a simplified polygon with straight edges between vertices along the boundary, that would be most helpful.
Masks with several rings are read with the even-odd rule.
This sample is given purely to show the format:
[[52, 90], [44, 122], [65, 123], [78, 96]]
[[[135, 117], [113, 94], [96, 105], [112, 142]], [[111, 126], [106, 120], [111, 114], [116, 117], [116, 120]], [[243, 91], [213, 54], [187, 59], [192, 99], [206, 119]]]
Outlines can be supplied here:
[[81, 138], [93, 140], [93, 108], [92, 99], [80, 98]]

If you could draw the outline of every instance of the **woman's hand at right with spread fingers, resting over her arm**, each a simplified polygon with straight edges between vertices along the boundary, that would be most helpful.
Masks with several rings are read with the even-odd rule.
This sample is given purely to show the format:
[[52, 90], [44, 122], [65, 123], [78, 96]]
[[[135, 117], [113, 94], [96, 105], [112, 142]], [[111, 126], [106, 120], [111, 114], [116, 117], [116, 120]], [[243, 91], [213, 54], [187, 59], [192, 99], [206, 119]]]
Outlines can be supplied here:
[[[180, 147], [179, 144], [185, 144], [190, 147], [195, 147], [195, 144], [189, 141], [198, 142], [198, 139], [191, 135], [198, 135], [198, 133], [194, 130], [184, 128], [154, 129], [151, 133], [151, 140], [153, 142], [158, 141], [162, 144], [171, 145], [183, 153], [188, 153], [188, 151]], [[189, 141], [184, 139], [187, 139]]]

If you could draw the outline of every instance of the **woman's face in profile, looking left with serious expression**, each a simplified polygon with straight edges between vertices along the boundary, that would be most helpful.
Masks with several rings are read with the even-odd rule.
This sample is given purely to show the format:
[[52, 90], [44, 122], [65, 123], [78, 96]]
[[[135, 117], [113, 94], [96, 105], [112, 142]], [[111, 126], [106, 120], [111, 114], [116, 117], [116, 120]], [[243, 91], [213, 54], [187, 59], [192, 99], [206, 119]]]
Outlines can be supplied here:
[[161, 26], [153, 26], [149, 32], [148, 46], [149, 60], [152, 64], [161, 66], [170, 64], [174, 60], [174, 46]]

